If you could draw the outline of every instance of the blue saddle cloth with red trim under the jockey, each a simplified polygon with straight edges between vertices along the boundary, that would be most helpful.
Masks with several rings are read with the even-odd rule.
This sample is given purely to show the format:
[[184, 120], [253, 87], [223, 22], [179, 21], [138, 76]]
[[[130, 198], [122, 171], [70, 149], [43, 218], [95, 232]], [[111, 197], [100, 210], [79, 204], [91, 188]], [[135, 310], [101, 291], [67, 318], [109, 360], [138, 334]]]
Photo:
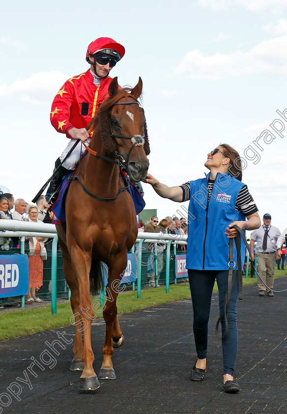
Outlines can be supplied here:
[[[139, 214], [145, 207], [145, 201], [142, 198], [140, 192], [138, 189], [128, 180], [127, 174], [124, 172], [121, 172], [125, 179], [129, 183], [128, 192], [131, 195], [135, 212], [136, 214]], [[69, 188], [70, 181], [67, 179], [67, 177], [70, 177], [74, 174], [74, 171], [71, 171], [70, 173], [66, 174], [63, 179], [63, 184], [59, 193], [59, 197], [57, 198], [56, 202], [54, 203], [54, 206], [52, 207], [52, 211], [54, 213], [54, 219], [53, 224], [61, 224], [61, 222], [66, 221], [66, 212], [65, 212], [65, 200], [67, 195], [67, 190]], [[121, 197], [121, 196], [120, 196]]]

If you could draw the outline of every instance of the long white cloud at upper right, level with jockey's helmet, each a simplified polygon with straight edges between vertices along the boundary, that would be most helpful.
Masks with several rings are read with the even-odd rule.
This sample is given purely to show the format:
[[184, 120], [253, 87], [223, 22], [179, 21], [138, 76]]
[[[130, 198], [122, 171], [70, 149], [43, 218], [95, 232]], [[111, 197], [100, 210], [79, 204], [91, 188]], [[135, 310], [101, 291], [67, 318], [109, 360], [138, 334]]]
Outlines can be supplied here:
[[264, 40], [249, 52], [203, 56], [195, 49], [176, 68], [176, 75], [193, 79], [222, 79], [248, 74], [286, 77], [286, 49], [287, 35]]

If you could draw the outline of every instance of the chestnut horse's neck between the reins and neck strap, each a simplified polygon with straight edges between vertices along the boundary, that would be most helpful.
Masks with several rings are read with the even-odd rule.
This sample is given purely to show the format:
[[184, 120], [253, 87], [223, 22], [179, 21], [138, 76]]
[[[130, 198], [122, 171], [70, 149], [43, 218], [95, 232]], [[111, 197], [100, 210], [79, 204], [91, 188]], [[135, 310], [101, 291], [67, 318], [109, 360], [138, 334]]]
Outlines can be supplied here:
[[[96, 137], [95, 137], [96, 138]], [[106, 152], [104, 144], [101, 139], [93, 138], [90, 148], [96, 151], [98, 154], [104, 157], [115, 160], [114, 154]], [[102, 158], [96, 157], [95, 155], [88, 152], [86, 155], [85, 169], [82, 170], [80, 175], [85, 182], [87, 188], [90, 191], [92, 189], [101, 191], [99, 194], [101, 197], [114, 197], [114, 193], [118, 192], [119, 187], [119, 167], [109, 161], [103, 160]]]

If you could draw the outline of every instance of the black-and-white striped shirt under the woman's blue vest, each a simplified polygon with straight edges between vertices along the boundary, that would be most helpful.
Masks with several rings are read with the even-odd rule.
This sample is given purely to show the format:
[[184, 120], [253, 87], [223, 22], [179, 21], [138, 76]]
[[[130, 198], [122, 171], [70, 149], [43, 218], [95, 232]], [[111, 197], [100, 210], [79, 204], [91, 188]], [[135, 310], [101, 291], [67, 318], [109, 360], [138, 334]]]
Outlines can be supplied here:
[[[207, 192], [208, 192], [208, 199], [211, 197], [212, 189], [214, 186], [215, 180], [208, 180], [207, 184]], [[188, 201], [191, 199], [191, 188], [190, 188], [190, 181], [180, 185], [183, 191], [183, 199], [182, 201]], [[235, 203], [235, 210], [239, 211], [241, 210], [245, 216], [249, 216], [251, 214], [254, 214], [256, 211], [258, 211], [258, 208], [255, 205], [255, 202], [247, 188], [247, 185], [244, 185], [241, 190], [239, 191], [239, 194], [236, 199]]]

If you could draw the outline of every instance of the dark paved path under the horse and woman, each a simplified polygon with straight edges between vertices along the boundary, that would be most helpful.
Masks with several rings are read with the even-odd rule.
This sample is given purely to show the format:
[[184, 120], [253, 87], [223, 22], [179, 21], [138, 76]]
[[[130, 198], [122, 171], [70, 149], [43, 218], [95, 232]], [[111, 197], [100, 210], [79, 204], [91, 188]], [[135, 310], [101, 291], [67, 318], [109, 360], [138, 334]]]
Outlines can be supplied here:
[[[285, 288], [287, 276], [277, 278], [275, 289]], [[182, 300], [119, 315], [125, 343], [114, 350], [117, 379], [100, 380], [92, 393], [81, 392], [80, 372], [69, 371], [74, 327], [2, 341], [0, 413], [287, 414], [287, 292], [259, 297], [255, 285], [245, 286], [237, 308], [238, 394], [223, 392], [214, 294], [203, 382], [190, 381], [196, 359], [192, 309], [191, 300]], [[104, 321], [95, 320], [96, 372], [104, 335]]]

